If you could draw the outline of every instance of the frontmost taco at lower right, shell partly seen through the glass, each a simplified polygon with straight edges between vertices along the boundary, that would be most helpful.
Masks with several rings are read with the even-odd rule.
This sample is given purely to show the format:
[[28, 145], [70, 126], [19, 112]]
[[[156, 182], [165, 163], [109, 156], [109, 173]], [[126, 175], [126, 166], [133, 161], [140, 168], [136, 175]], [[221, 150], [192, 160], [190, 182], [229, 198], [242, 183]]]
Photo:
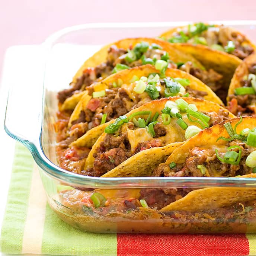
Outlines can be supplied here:
[[[256, 117], [233, 118], [206, 128], [173, 151], [153, 175], [161, 177], [256, 177]], [[163, 191], [173, 195], [172, 189]], [[145, 191], [141, 192], [145, 194]], [[253, 188], [181, 189], [161, 211], [199, 211], [256, 199]], [[150, 196], [145, 200], [150, 202]], [[191, 204], [193, 202], [193, 204]], [[163, 204], [160, 202], [160, 205]]]

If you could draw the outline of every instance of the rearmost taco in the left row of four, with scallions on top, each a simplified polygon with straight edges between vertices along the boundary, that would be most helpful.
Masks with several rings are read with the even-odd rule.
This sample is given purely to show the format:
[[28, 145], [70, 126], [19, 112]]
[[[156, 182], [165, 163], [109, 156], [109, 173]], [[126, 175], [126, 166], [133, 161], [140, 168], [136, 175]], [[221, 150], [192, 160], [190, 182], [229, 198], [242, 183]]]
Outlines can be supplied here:
[[209, 84], [213, 89], [221, 87], [223, 76], [204, 66], [168, 42], [153, 38], [131, 38], [106, 45], [89, 58], [77, 71], [70, 88], [58, 93], [60, 110], [73, 110], [86, 87], [105, 79], [112, 73], [144, 64], [166, 61], [170, 68], [180, 68]]

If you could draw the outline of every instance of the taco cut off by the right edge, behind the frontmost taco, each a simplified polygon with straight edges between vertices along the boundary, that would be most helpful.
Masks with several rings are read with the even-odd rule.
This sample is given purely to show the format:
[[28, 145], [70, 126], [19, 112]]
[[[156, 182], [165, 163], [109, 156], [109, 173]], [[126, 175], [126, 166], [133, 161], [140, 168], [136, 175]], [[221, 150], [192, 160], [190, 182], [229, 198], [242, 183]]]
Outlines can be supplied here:
[[227, 105], [234, 115], [256, 114], [256, 53], [241, 63], [231, 80]]

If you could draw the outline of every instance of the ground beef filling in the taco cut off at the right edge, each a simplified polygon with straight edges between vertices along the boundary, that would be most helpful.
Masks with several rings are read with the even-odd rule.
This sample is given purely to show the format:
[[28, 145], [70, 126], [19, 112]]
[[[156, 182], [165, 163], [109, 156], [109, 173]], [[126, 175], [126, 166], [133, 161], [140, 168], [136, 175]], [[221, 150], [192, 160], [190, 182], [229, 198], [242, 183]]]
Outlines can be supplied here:
[[[250, 74], [256, 73], [256, 63], [248, 67]], [[242, 79], [240, 81], [241, 87], [251, 87], [251, 80]], [[230, 95], [227, 109], [236, 116], [255, 115], [256, 114], [256, 95]]]

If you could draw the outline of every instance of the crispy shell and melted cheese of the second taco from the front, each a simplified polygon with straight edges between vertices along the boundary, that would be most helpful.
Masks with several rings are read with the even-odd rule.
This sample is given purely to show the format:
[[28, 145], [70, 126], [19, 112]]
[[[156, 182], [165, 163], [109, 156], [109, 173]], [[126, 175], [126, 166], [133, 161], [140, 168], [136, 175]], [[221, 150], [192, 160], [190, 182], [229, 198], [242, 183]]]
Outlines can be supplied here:
[[[175, 102], [180, 97], [170, 97], [163, 98], [160, 100], [153, 100], [152, 102], [146, 103], [140, 106], [137, 109], [132, 110], [127, 113], [127, 117], [136, 113], [138, 111], [151, 111], [152, 116], [156, 112], [161, 113], [161, 110], [164, 108], [167, 101]], [[183, 97], [183, 99], [189, 104], [195, 104], [198, 111], [200, 112], [216, 112], [224, 111], [229, 118], [234, 117], [233, 114], [228, 112], [226, 109], [221, 107], [220, 105], [208, 102], [206, 100], [195, 99], [192, 97]], [[186, 116], [183, 117], [184, 120], [188, 123], [188, 125], [198, 125], [197, 123], [192, 123]], [[176, 124], [176, 118], [171, 119], [171, 123], [165, 126], [167, 129], [166, 134], [161, 137], [161, 140], [164, 141], [162, 146], [160, 147], [152, 147], [143, 151], [140, 151], [136, 154], [137, 147], [139, 143], [143, 143], [144, 141], [152, 140], [151, 137], [145, 128], [137, 129], [138, 132], [128, 131], [128, 139], [129, 144], [131, 146], [130, 151], [133, 154], [127, 160], [120, 163], [118, 166], [106, 172], [102, 177], [135, 177], [135, 176], [151, 176], [153, 169], [161, 162], [162, 159], [166, 159], [168, 155], [185, 140], [185, 131]], [[198, 125], [199, 127], [200, 125]], [[124, 129], [126, 127], [124, 126]], [[84, 169], [90, 169], [94, 167], [95, 155], [97, 154], [97, 149], [100, 147], [101, 143], [105, 140], [106, 133], [103, 133], [96, 143], [93, 145], [92, 150], [90, 151]], [[147, 159], [147, 161], [145, 161]]]

